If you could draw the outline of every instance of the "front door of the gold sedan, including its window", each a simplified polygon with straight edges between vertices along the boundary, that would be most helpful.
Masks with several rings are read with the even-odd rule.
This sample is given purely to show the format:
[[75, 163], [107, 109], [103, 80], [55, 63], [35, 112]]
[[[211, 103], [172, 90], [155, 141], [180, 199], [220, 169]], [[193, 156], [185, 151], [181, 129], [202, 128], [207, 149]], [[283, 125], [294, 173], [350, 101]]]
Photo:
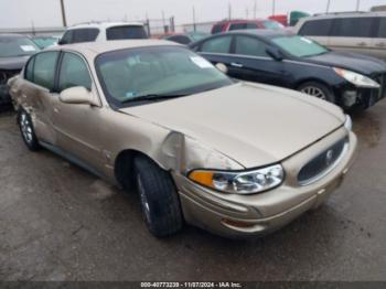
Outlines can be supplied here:
[[[83, 86], [97, 97], [88, 66], [81, 55], [65, 52], [58, 72], [58, 93]], [[53, 106], [57, 147], [68, 153], [67, 157], [75, 157], [84, 164], [100, 171], [100, 107], [89, 104], [64, 104], [58, 97]]]

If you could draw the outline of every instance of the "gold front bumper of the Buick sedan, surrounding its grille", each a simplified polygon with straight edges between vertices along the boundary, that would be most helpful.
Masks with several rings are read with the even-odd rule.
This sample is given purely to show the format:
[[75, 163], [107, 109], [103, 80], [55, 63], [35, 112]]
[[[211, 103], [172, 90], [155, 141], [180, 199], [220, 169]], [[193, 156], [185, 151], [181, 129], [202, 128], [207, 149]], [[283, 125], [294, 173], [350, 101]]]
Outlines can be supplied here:
[[259, 194], [224, 194], [173, 174], [185, 221], [226, 237], [260, 236], [282, 227], [305, 211], [318, 207], [340, 186], [355, 154], [357, 140], [352, 132], [349, 150], [328, 175], [304, 186], [298, 184], [296, 175], [310, 159], [346, 135], [341, 128], [282, 161], [287, 172], [285, 183]]

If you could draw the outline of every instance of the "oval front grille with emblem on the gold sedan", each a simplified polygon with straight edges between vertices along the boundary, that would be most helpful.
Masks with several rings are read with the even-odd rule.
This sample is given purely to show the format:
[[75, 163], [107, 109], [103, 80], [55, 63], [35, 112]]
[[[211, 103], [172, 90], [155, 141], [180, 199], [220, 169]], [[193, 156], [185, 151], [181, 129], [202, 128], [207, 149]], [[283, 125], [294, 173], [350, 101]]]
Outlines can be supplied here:
[[344, 138], [308, 162], [298, 174], [299, 184], [307, 185], [313, 183], [328, 174], [337, 164], [347, 143], [347, 138]]

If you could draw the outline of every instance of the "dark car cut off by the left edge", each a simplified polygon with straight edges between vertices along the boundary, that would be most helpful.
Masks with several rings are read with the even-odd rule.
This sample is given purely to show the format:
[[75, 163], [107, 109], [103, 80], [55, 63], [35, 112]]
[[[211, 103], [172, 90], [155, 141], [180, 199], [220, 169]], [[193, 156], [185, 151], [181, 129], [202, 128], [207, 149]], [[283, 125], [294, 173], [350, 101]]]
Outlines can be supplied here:
[[8, 79], [19, 74], [28, 58], [37, 51], [28, 36], [0, 34], [0, 110], [11, 105]]

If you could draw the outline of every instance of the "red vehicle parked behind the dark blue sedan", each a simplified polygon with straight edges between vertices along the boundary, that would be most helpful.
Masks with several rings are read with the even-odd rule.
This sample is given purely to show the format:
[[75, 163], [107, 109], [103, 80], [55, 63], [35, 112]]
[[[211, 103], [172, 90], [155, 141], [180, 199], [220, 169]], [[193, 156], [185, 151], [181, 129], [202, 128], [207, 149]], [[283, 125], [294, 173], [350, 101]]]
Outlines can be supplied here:
[[269, 19], [256, 20], [224, 20], [213, 25], [212, 34], [245, 29], [282, 29], [281, 23]]

